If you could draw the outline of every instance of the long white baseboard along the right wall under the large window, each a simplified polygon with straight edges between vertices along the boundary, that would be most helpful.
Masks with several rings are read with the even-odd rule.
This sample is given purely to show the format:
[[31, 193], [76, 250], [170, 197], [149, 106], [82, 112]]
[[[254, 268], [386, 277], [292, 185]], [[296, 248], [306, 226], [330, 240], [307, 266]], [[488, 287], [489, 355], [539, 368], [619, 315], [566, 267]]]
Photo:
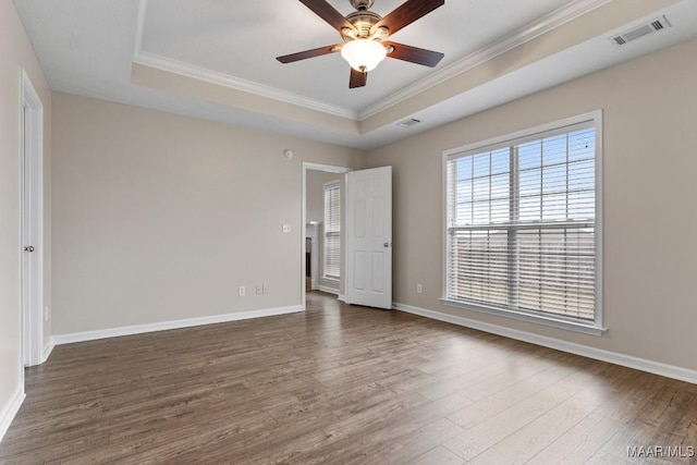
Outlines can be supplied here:
[[604, 351], [602, 348], [590, 347], [587, 345], [566, 342], [559, 339], [534, 334], [531, 332], [521, 331], [512, 328], [505, 328], [499, 325], [491, 325], [484, 321], [477, 321], [455, 315], [443, 314], [441, 311], [428, 310], [426, 308], [414, 307], [411, 305], [394, 303], [393, 308], [401, 311], [406, 311], [408, 314], [419, 315], [421, 317], [445, 321], [479, 331], [490, 332], [492, 334], [499, 334], [505, 338], [529, 342], [531, 344], [542, 345], [545, 347], [555, 348], [558, 351], [568, 352], [572, 354], [582, 355], [584, 357], [595, 358], [597, 360], [608, 362], [614, 365], [622, 365], [624, 367], [634, 368], [653, 375], [660, 375], [668, 378], [697, 384], [697, 371], [687, 368], [668, 365], [660, 362], [648, 360], [646, 358], [634, 357], [632, 355], [620, 354], [616, 352]]

